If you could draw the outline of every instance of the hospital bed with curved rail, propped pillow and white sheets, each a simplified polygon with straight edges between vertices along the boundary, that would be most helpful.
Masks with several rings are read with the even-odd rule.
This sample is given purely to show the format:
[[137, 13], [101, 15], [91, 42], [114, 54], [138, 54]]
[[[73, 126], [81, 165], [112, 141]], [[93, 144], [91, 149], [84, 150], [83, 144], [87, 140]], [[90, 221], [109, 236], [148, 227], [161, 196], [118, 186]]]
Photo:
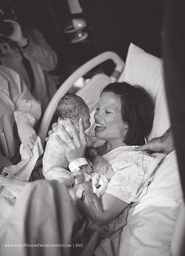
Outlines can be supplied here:
[[[93, 75], [89, 82], [77, 92], [89, 105], [91, 115], [93, 115], [103, 87], [109, 82], [125, 81], [132, 85], [143, 86], [154, 100], [154, 124], [147, 140], [161, 136], [169, 128], [169, 112], [165, 99], [161, 60], [131, 44], [125, 63], [116, 53], [102, 53], [82, 65], [63, 82], [42, 118], [38, 135], [43, 145], [60, 98], [70, 90], [71, 86], [74, 86], [79, 78], [107, 60], [114, 62], [112, 74], [106, 75], [100, 72]], [[93, 121], [90, 129], [93, 130]], [[175, 255], [179, 246], [177, 237], [185, 220], [182, 201], [176, 152], [171, 152], [155, 170], [147, 193], [139, 203], [134, 203], [130, 207], [127, 225], [122, 232], [119, 256], [167, 256], [170, 251], [172, 251], [171, 255]], [[178, 217], [179, 214], [180, 217]], [[172, 238], [175, 228], [177, 235]], [[107, 250], [105, 254], [112, 255], [111, 248]]]

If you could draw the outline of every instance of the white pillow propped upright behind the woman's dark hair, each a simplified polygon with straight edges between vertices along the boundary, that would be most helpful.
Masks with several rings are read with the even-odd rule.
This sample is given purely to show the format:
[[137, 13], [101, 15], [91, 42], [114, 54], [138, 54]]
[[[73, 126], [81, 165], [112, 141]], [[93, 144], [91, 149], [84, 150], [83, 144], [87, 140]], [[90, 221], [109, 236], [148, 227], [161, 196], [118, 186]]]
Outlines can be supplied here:
[[154, 123], [147, 140], [150, 141], [153, 137], [159, 137], [165, 133], [170, 126], [170, 122], [161, 59], [146, 53], [143, 49], [131, 43], [125, 69], [119, 81], [143, 86], [154, 100]]

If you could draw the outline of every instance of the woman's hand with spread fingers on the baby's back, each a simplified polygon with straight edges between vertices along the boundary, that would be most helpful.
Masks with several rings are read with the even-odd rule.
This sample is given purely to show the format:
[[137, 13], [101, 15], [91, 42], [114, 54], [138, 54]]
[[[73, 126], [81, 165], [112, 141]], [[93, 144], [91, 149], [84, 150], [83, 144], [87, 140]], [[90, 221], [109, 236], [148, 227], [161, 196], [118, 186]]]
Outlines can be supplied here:
[[79, 120], [79, 133], [71, 120], [67, 119], [67, 122], [71, 129], [71, 135], [61, 126], [60, 130], [63, 133], [64, 139], [62, 140], [58, 135], [56, 135], [56, 139], [63, 144], [67, 159], [71, 163], [75, 159], [84, 157], [87, 141], [82, 119]]

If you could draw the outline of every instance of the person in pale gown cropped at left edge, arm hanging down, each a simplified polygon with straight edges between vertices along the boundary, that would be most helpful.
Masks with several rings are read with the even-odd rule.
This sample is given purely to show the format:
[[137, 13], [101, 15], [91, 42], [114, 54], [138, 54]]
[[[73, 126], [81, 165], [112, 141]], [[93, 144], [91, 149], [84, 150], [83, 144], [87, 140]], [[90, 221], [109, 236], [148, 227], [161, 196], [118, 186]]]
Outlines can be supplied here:
[[[37, 134], [34, 125], [41, 117], [41, 105], [15, 71], [0, 65], [0, 170], [18, 163], [20, 143], [31, 155]], [[7, 160], [7, 163], [6, 163]], [[4, 164], [2, 164], [2, 162]]]

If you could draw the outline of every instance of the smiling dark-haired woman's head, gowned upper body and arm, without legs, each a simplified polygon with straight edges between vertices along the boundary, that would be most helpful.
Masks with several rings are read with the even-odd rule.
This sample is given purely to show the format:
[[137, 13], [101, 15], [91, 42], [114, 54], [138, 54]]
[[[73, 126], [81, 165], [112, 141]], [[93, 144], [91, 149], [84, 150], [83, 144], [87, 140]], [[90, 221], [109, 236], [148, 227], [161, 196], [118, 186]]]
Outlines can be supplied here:
[[[151, 131], [153, 116], [154, 104], [151, 97], [141, 87], [117, 82], [104, 88], [94, 115], [95, 136], [106, 141], [98, 152], [111, 164], [114, 176], [108, 182], [101, 202], [96, 195], [89, 191], [90, 185], [85, 182], [81, 184], [85, 169], [89, 168], [81, 159], [84, 157], [86, 148], [82, 124], [80, 136], [71, 124], [72, 140], [63, 128], [66, 140], [62, 141], [60, 137], [59, 140], [68, 151], [69, 168], [71, 169], [71, 165], [74, 163], [72, 169], [75, 173], [78, 171], [78, 177], [76, 177], [78, 208], [85, 211], [86, 215], [89, 214], [88, 217], [96, 223], [107, 224], [118, 217], [129, 203], [138, 200], [138, 192], [141, 193], [143, 186], [146, 186], [147, 177], [158, 165], [158, 159], [134, 151], [135, 146], [128, 146], [144, 144], [145, 137]], [[82, 165], [80, 165], [81, 161]], [[78, 168], [81, 170], [77, 170]], [[90, 198], [86, 200], [90, 200], [96, 210], [89, 211], [89, 204], [86, 207], [86, 201], [77, 196], [80, 189], [85, 192], [88, 189]], [[116, 224], [114, 223], [114, 225]], [[119, 225], [115, 227], [115, 229], [118, 228], [120, 228]]]

